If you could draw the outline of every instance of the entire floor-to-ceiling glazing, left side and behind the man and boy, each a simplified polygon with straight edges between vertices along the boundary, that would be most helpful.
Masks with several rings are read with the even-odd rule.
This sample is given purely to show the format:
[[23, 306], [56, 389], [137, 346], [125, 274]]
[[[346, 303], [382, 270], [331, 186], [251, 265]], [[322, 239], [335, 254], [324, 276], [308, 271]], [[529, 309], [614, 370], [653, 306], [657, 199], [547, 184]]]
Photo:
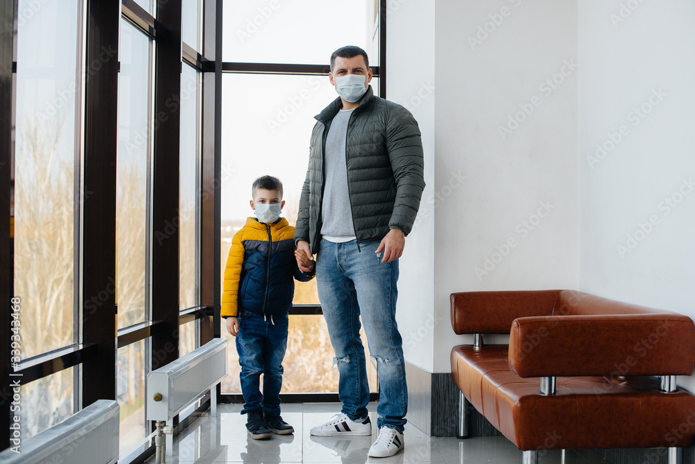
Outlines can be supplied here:
[[[19, 363], [0, 364], [0, 378], [3, 388], [21, 379], [23, 440], [97, 399], [116, 399], [119, 462], [149, 452], [147, 373], [220, 336], [215, 261], [224, 265], [251, 215], [256, 176], [282, 179], [284, 215], [295, 222], [313, 115], [336, 97], [325, 75], [331, 51], [366, 49], [378, 94], [377, 3], [17, 0], [0, 8], [3, 28], [16, 26], [0, 34], [0, 80], [13, 85], [0, 92], [0, 188], [10, 192], [0, 195], [10, 215], [0, 239], [12, 252], [0, 253], [10, 270], [0, 294], [21, 301]], [[336, 34], [337, 20], [354, 27]], [[223, 31], [224, 56], [215, 37]], [[268, 64], [279, 67], [263, 74]], [[229, 74], [220, 78], [220, 67]], [[294, 302], [285, 390], [334, 391], [316, 283], [298, 283]], [[3, 358], [11, 327], [0, 325]], [[227, 392], [238, 392], [235, 353], [232, 343]], [[10, 417], [0, 401], [0, 428]], [[0, 445], [10, 445], [7, 436]]]

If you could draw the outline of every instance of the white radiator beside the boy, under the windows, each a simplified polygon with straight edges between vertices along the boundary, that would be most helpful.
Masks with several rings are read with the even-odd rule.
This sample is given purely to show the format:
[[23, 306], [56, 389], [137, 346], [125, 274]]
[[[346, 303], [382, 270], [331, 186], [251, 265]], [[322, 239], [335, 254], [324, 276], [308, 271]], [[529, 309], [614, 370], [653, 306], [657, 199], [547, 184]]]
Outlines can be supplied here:
[[170, 421], [227, 376], [227, 340], [215, 338], [176, 361], [147, 375], [147, 420]]

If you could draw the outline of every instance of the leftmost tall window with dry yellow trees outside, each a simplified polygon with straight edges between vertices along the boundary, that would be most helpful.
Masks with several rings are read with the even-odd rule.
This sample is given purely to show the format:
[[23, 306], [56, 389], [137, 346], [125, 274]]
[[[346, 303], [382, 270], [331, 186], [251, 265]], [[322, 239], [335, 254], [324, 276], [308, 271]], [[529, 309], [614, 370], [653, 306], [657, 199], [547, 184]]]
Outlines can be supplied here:
[[[14, 184], [14, 296], [21, 358], [76, 338], [76, 107], [79, 1], [19, 0]], [[3, 109], [5, 111], [6, 109]], [[78, 165], [79, 167], [79, 165]], [[9, 345], [7, 340], [3, 340]], [[8, 361], [4, 361], [8, 362]], [[22, 438], [74, 411], [72, 370], [22, 387]]]

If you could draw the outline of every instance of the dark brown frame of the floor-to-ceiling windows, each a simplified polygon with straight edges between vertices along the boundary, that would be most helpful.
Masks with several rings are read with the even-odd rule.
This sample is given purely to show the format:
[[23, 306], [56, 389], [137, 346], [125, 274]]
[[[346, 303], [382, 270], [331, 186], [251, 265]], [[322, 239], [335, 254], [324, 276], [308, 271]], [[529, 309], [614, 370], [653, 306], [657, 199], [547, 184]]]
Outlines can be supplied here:
[[[134, 0], [77, 0], [81, 6], [81, 40], [76, 50], [78, 72], [83, 73], [90, 63], [101, 63], [99, 69], [88, 78], [79, 74], [77, 96], [78, 123], [76, 140], [76, 204], [79, 202], [79, 221], [75, 236], [75, 305], [74, 323], [79, 326], [74, 343], [19, 363], [19, 369], [10, 372], [9, 363], [0, 363], [0, 386], [5, 395], [10, 394], [14, 379], [22, 384], [42, 379], [70, 367], [75, 370], [75, 409], [79, 410], [97, 399], [116, 399], [117, 349], [152, 337], [150, 356], [154, 360], [156, 350], [164, 350], [166, 356], [159, 365], [165, 365], [178, 357], [178, 349], [167, 350], [169, 345], [179, 345], [178, 328], [181, 324], [197, 324], [197, 340], [204, 344], [219, 338], [220, 324], [220, 173], [222, 133], [222, 73], [254, 74], [316, 74], [327, 75], [327, 65], [234, 63], [222, 62], [222, 7], [223, 0], [200, 0], [199, 36], [202, 37], [202, 53], [181, 42], [181, 2], [157, 2], [156, 17], [147, 13]], [[379, 0], [379, 65], [371, 67], [379, 78], [379, 95], [386, 97], [386, 0]], [[179, 207], [179, 158], [172, 163], [172, 153], [179, 154], [180, 117], [171, 113], [166, 121], [160, 121], [161, 111], [167, 111], [165, 102], [172, 95], [180, 95], [181, 80], [170, 79], [181, 72], [181, 61], [201, 72], [201, 98], [199, 99], [199, 222], [197, 233], [197, 288], [199, 305], [181, 309], [178, 306], [178, 233], [174, 233], [164, 247], [152, 244], [150, 278], [152, 283], [149, 320], [117, 329], [115, 295], [110, 295], [99, 312], [90, 314], [83, 310], [89, 295], [96, 295], [105, 288], [108, 279], [115, 277], [115, 199], [116, 199], [116, 147], [117, 147], [117, 73], [118, 60], [99, 60], [104, 50], [117, 49], [121, 18], [146, 33], [156, 42], [154, 57], [154, 151], [152, 151], [152, 210], [149, 211], [153, 231], [161, 228], [167, 219], [176, 216]], [[0, 34], [0, 105], [12, 108], [0, 113], [0, 166], [13, 167], [15, 124], [15, 76], [17, 72], [17, 1], [0, 2], [0, 24], [13, 24], [14, 33]], [[161, 124], [159, 124], [161, 122]], [[158, 163], [166, 159], [167, 163]], [[11, 189], [13, 169], [0, 169], [0, 215], [11, 215]], [[154, 182], [156, 180], [157, 182]], [[167, 181], [171, 185], [166, 185]], [[81, 183], [81, 185], [80, 185]], [[172, 187], [173, 185], [173, 187]], [[90, 192], [85, 197], [82, 192]], [[76, 205], [77, 206], [77, 205]], [[148, 208], [150, 205], [148, 205]], [[77, 210], [77, 208], [76, 208]], [[0, 221], [0, 240], [12, 244], [13, 235], [8, 221]], [[152, 242], [152, 240], [149, 240]], [[11, 249], [0, 249], [0, 298], [10, 301], [13, 297], [13, 255]], [[89, 272], [83, 272], [89, 270]], [[174, 293], [172, 298], [170, 294]], [[322, 314], [318, 305], [293, 306], [292, 315]], [[0, 340], [10, 340], [10, 312], [0, 311]], [[116, 336], [114, 336], [116, 334]], [[0, 358], [10, 358], [10, 344], [0, 342]], [[152, 368], [159, 367], [152, 361]], [[113, 381], [111, 381], [113, 379]], [[218, 385], [218, 394], [220, 386]], [[236, 399], [235, 395], [222, 395]], [[240, 396], [240, 395], [238, 395]], [[285, 401], [335, 401], [338, 395], [286, 394]], [[377, 399], [376, 394], [370, 399]], [[11, 397], [11, 394], [10, 394]], [[208, 408], [209, 396], [200, 401], [198, 411]], [[188, 425], [188, 417], [176, 424], [175, 431]], [[10, 401], [0, 402], [0, 428], [9, 429]], [[0, 440], [0, 449], [10, 446], [9, 436]], [[152, 454], [154, 442], [148, 440], [125, 462]]]

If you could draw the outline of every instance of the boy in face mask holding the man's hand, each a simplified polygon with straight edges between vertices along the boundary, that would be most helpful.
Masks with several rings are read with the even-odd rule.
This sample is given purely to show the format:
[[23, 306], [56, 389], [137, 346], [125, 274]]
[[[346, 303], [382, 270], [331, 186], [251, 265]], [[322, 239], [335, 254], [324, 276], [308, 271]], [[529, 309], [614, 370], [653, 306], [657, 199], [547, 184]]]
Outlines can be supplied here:
[[[280, 417], [282, 359], [287, 347], [288, 313], [294, 295], [293, 277], [313, 279], [313, 260], [304, 255], [301, 272], [295, 260], [295, 228], [280, 217], [285, 206], [282, 183], [272, 176], [254, 181], [251, 208], [245, 226], [231, 241], [224, 269], [220, 315], [227, 331], [236, 337], [241, 365], [242, 414], [251, 438], [270, 438], [270, 432], [293, 433]], [[259, 391], [263, 374], [263, 394]]]

